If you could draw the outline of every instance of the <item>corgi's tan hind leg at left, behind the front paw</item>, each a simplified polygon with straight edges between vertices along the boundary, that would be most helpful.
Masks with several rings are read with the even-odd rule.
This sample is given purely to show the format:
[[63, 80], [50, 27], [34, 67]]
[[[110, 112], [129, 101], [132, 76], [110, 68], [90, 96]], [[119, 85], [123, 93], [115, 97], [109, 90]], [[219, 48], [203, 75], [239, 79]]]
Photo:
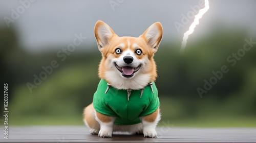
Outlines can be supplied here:
[[83, 110], [83, 121], [90, 128], [91, 134], [98, 134], [100, 130], [99, 122], [95, 118], [95, 109], [93, 104], [90, 104]]

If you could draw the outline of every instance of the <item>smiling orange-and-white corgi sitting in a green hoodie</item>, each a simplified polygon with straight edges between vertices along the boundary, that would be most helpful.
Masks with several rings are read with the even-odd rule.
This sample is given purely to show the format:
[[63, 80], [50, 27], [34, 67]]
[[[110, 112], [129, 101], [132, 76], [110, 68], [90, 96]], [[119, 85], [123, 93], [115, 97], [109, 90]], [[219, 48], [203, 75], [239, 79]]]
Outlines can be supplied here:
[[160, 109], [153, 57], [163, 36], [161, 23], [154, 23], [139, 37], [119, 37], [106, 23], [97, 21], [94, 34], [102, 59], [93, 103], [83, 110], [90, 133], [100, 137], [112, 137], [112, 132], [157, 137]]

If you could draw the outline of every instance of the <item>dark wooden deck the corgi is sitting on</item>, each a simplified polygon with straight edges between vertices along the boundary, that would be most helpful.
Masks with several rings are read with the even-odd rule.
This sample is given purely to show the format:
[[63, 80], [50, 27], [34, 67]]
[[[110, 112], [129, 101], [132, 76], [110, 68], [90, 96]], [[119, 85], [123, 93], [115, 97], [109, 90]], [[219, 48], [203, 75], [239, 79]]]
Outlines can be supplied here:
[[176, 128], [158, 127], [158, 138], [113, 134], [101, 138], [86, 126], [9, 127], [9, 139], [0, 142], [256, 142], [256, 128]]

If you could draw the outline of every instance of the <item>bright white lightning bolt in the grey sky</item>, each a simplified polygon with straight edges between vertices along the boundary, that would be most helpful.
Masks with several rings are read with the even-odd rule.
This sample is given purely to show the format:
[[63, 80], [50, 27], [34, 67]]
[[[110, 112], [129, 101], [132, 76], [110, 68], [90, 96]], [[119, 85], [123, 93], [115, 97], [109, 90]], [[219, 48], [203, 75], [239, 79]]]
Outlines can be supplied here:
[[188, 31], [184, 33], [183, 40], [181, 42], [181, 51], [185, 51], [188, 36], [194, 32], [194, 29], [199, 24], [199, 19], [202, 18], [202, 16], [208, 11], [208, 9], [209, 9], [209, 1], [205, 0], [204, 8], [199, 10], [198, 14], [195, 16], [193, 23], [191, 23]]

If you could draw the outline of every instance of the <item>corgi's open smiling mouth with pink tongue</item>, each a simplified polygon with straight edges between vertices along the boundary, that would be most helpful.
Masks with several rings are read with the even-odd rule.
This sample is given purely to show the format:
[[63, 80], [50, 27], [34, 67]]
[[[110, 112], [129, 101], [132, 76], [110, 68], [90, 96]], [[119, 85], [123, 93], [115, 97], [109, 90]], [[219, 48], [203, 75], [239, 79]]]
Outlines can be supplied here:
[[136, 73], [139, 69], [140, 69], [140, 66], [137, 66], [137, 67], [131, 67], [131, 66], [123, 66], [123, 67], [120, 67], [118, 66], [116, 63], [115, 63], [115, 66], [116, 68], [122, 73], [122, 76], [126, 77], [126, 78], [129, 78], [129, 77], [132, 77], [134, 73]]

